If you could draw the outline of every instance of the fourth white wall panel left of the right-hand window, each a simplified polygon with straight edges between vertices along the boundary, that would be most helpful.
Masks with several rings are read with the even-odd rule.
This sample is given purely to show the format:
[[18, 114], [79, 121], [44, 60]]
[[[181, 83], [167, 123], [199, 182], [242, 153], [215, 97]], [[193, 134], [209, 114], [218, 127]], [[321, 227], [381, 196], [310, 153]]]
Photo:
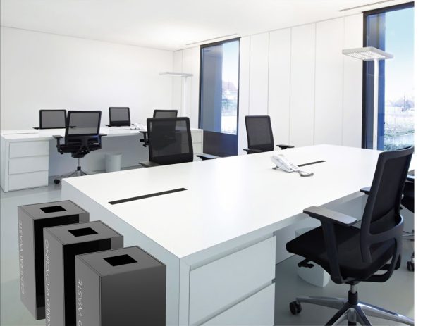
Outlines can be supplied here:
[[289, 144], [290, 29], [269, 33], [269, 115], [275, 144]]

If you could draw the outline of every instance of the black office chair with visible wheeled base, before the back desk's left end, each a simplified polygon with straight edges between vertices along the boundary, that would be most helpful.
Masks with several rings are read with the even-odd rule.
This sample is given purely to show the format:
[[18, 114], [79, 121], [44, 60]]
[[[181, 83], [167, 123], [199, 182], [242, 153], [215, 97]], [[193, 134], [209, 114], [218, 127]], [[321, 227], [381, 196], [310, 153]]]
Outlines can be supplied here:
[[75, 177], [80, 175], [88, 175], [81, 169], [81, 158], [102, 148], [102, 136], [100, 134], [100, 120], [102, 119], [102, 111], [68, 111], [66, 119], [65, 143], [60, 144], [60, 135], [53, 136], [57, 141], [57, 151], [59, 153], [71, 153], [73, 158], [78, 158], [78, 166], [76, 171], [61, 175], [54, 179], [55, 184], [59, 184], [63, 177]]

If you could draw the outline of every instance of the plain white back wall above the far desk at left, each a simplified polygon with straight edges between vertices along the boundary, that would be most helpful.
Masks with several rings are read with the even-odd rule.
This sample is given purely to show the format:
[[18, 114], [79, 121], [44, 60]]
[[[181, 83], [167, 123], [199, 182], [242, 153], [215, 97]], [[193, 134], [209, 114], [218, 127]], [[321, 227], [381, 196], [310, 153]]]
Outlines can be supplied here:
[[39, 109], [129, 106], [145, 124], [170, 108], [173, 52], [1, 27], [1, 130], [38, 125]]

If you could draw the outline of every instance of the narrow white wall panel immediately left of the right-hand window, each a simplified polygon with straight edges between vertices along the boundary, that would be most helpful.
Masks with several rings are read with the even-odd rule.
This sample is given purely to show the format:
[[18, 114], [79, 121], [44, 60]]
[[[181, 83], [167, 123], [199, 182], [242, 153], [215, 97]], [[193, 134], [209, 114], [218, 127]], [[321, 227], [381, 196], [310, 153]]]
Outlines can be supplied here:
[[[363, 46], [363, 15], [344, 18], [343, 49]], [[362, 138], [362, 61], [343, 56], [343, 142], [361, 147]]]

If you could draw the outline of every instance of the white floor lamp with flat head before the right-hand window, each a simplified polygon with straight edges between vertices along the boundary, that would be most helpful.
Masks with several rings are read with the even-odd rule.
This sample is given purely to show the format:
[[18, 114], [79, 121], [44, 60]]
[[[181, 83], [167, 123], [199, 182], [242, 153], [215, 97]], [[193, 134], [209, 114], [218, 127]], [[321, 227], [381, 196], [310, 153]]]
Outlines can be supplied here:
[[378, 108], [379, 108], [379, 60], [391, 59], [392, 54], [377, 49], [373, 46], [366, 46], [357, 49], [345, 49], [342, 50], [342, 54], [345, 56], [351, 56], [353, 58], [360, 59], [362, 61], [373, 61], [374, 62], [374, 91], [373, 91], [373, 149], [377, 149], [377, 120], [378, 120]]

